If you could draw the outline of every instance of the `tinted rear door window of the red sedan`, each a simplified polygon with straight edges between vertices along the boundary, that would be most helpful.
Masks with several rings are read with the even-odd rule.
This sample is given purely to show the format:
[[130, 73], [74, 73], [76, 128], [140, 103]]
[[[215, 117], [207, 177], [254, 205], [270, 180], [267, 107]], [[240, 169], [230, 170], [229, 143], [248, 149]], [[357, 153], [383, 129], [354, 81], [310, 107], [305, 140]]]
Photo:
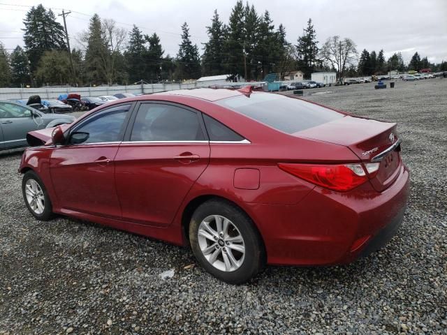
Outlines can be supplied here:
[[205, 140], [196, 112], [174, 105], [140, 105], [133, 124], [131, 141]]

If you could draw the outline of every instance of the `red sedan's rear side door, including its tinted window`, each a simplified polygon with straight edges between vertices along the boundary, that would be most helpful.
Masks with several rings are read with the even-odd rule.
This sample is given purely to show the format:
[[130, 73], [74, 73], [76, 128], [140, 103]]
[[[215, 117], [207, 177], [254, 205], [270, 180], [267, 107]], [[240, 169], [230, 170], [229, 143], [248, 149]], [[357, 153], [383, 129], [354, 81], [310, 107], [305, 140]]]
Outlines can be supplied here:
[[171, 103], [140, 103], [115, 157], [124, 220], [169, 225], [209, 160], [200, 112]]

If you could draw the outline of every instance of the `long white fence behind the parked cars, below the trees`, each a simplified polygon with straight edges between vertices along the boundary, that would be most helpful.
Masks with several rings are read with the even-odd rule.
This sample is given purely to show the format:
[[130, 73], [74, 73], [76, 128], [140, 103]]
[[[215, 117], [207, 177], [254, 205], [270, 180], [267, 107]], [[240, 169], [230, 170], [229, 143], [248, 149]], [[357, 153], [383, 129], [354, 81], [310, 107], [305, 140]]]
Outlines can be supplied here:
[[[228, 82], [228, 85], [257, 85], [261, 82]], [[6, 89], [0, 88], [0, 100], [27, 99], [29, 96], [38, 95], [43, 99], [57, 99], [61, 94], [76, 93], [81, 96], [112, 96], [117, 93], [152, 94], [162, 91], [173, 91], [174, 89], [195, 89], [197, 87], [208, 87], [209, 83], [192, 84], [143, 84], [129, 86], [100, 86], [100, 87], [39, 87]], [[226, 84], [227, 85], [227, 84]]]

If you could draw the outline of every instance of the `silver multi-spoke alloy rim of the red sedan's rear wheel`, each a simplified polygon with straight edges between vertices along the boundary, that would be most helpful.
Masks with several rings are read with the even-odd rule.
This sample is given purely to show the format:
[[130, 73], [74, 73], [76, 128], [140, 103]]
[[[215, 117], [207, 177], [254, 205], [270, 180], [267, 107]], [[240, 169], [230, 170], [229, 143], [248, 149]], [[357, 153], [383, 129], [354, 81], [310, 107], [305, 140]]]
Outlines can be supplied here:
[[223, 216], [207, 216], [200, 223], [198, 245], [206, 260], [221, 271], [235, 271], [244, 262], [244, 239], [236, 226]]

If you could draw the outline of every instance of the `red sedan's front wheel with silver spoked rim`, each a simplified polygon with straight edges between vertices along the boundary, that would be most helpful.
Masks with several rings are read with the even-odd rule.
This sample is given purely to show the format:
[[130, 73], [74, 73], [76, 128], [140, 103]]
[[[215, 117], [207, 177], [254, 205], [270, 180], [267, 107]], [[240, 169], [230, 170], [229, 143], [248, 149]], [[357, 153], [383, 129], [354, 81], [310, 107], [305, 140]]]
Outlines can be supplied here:
[[34, 171], [28, 171], [22, 179], [22, 193], [28, 210], [35, 218], [47, 221], [52, 218], [52, 204], [41, 179]]

